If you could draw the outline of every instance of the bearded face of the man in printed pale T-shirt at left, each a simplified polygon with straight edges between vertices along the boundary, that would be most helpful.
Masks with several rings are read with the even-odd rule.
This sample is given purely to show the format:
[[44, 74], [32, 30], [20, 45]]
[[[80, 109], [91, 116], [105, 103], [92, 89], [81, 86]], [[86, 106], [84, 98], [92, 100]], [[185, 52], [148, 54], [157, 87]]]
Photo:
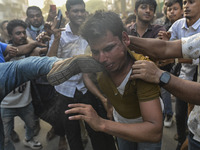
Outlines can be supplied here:
[[14, 46], [27, 43], [26, 29], [22, 26], [15, 27], [12, 31], [11, 39]]

